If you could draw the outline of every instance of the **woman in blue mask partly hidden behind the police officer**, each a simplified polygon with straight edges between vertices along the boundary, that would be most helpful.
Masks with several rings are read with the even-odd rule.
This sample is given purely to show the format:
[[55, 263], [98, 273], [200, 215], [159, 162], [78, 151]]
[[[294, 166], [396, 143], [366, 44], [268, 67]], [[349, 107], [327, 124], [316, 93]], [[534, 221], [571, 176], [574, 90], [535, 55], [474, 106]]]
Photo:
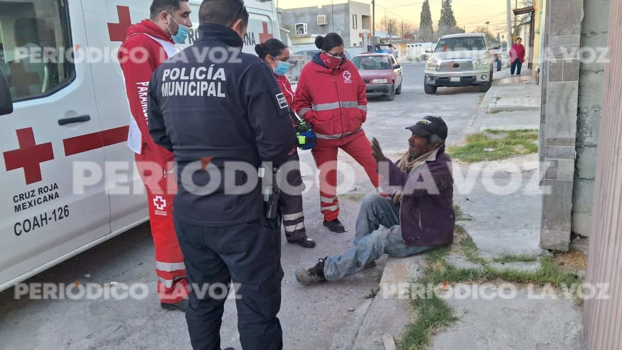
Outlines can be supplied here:
[[[255, 52], [270, 67], [276, 82], [281, 88], [283, 95], [285, 95], [287, 104], [291, 106], [294, 102], [294, 91], [289, 80], [285, 77], [285, 73], [289, 70], [289, 49], [287, 49], [287, 45], [279, 39], [268, 39], [266, 42], [256, 45]], [[294, 123], [293, 120], [292, 123]], [[295, 169], [285, 174], [287, 183], [292, 187], [302, 188], [300, 158], [296, 148], [292, 149], [289, 158], [287, 158], [287, 163], [295, 166]], [[286, 193], [283, 191], [281, 192], [281, 199], [283, 202], [281, 206], [283, 227], [285, 227], [287, 242], [300, 245], [303, 248], [315, 248], [315, 242], [307, 237], [307, 230], [305, 230], [305, 215], [302, 211], [302, 191], [297, 193]]]

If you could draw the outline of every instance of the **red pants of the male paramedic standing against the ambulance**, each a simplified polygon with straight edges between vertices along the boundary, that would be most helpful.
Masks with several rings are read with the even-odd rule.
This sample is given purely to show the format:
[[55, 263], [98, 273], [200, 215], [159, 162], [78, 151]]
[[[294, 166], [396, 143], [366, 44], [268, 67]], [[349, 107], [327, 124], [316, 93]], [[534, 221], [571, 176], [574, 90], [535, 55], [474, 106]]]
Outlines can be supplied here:
[[136, 154], [136, 166], [147, 189], [151, 235], [156, 248], [157, 293], [162, 303], [174, 304], [188, 296], [182, 250], [173, 225], [173, 199], [177, 192], [172, 163], [151, 161], [147, 146]]

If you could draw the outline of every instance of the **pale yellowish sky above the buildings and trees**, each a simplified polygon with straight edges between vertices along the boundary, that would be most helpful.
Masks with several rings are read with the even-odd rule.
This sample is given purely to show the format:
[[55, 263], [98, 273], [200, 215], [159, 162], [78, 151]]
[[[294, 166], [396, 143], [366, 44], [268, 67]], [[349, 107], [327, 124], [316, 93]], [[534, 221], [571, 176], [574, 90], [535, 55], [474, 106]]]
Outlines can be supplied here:
[[[277, 5], [284, 9], [294, 7], [322, 6], [330, 5], [330, 0], [273, 0]], [[371, 0], [356, 0], [371, 4]], [[514, 0], [516, 1], [516, 0]], [[513, 1], [513, 4], [514, 4]], [[345, 3], [345, 0], [335, 0], [335, 4]], [[440, 19], [440, 4], [442, 0], [430, 0], [430, 10], [432, 11], [432, 21], [436, 27]], [[421, 5], [423, 0], [376, 0], [376, 24], [381, 17], [384, 17], [386, 10], [387, 17], [404, 22], [411, 22], [415, 27], [419, 27]], [[490, 21], [490, 31], [493, 34], [507, 32], [506, 7], [507, 3], [503, 0], [453, 0], [453, 14], [458, 22], [458, 27], [466, 31], [474, 31], [478, 26], [485, 26], [486, 21]]]

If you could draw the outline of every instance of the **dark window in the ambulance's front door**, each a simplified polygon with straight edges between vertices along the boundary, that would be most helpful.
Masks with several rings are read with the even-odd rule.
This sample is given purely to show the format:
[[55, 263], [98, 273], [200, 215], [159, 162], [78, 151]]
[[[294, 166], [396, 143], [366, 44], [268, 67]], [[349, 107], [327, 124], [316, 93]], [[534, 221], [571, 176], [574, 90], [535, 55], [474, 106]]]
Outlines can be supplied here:
[[14, 102], [50, 95], [72, 79], [68, 23], [67, 0], [0, 0], [0, 69]]

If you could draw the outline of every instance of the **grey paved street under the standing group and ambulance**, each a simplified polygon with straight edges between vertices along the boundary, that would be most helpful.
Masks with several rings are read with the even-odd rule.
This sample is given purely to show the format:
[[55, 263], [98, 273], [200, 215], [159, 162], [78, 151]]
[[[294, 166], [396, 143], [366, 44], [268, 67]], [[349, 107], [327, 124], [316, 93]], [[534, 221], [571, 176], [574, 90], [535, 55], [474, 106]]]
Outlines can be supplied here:
[[[425, 95], [424, 64], [405, 64], [402, 95], [393, 102], [371, 100], [364, 128], [368, 137], [380, 141], [385, 154], [397, 158], [407, 148], [406, 126], [422, 116], [441, 116], [449, 126], [449, 143], [462, 138], [477, 110], [483, 93], [476, 87], [439, 88], [437, 95]], [[301, 154], [305, 181], [305, 214], [309, 236], [318, 247], [305, 250], [288, 245], [283, 237], [282, 308], [279, 318], [284, 330], [284, 349], [328, 349], [333, 336], [348, 322], [351, 308], [364, 301], [378, 286], [384, 260], [378, 267], [335, 283], [302, 287], [295, 281], [299, 265], [312, 265], [318, 258], [342, 252], [351, 246], [352, 229], [359, 203], [357, 197], [341, 201], [341, 219], [350, 232], [334, 235], [322, 227], [317, 186], [312, 181], [315, 166], [310, 152]], [[352, 194], [373, 192], [363, 169], [340, 153], [344, 166], [356, 174], [345, 187]], [[343, 178], [340, 174], [340, 178]], [[354, 186], [361, 189], [350, 191]], [[358, 188], [358, 187], [357, 187]], [[14, 300], [14, 291], [0, 293], [0, 339], [6, 349], [190, 349], [185, 318], [158, 305], [153, 247], [148, 225], [141, 225], [105, 244], [93, 248], [29, 281], [50, 283], [131, 285], [147, 283], [151, 293], [143, 300]], [[89, 277], [85, 277], [87, 275]], [[226, 303], [223, 320], [223, 348], [241, 349], [236, 331], [234, 301]]]

